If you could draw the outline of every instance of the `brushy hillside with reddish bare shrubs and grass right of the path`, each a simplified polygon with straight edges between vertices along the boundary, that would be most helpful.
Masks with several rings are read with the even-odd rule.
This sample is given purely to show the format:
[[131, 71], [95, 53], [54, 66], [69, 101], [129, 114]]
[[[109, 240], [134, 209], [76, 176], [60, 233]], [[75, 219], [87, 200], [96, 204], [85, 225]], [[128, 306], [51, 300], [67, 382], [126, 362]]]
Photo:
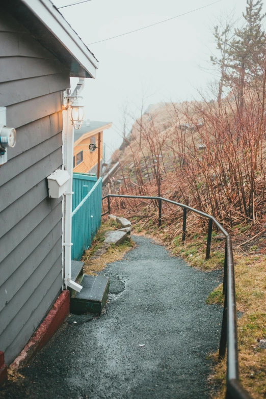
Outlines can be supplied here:
[[[105, 194], [161, 196], [214, 215], [230, 232], [235, 260], [240, 375], [254, 399], [266, 394], [266, 214], [265, 117], [259, 102], [248, 102], [242, 120], [235, 104], [216, 102], [157, 104], [136, 120], [120, 162]], [[259, 150], [256, 153], [257, 138]], [[129, 218], [135, 232], [156, 236], [172, 254], [193, 267], [210, 271], [224, 264], [225, 241], [214, 229], [210, 259], [205, 260], [206, 221], [189, 212], [187, 235], [181, 245], [182, 210], [163, 203], [158, 228], [158, 205], [150, 200], [111, 199], [111, 211]], [[105, 204], [105, 210], [107, 209]], [[222, 285], [206, 298], [223, 305]], [[213, 398], [225, 395], [225, 361], [211, 355]], [[217, 387], [219, 388], [217, 391]]]

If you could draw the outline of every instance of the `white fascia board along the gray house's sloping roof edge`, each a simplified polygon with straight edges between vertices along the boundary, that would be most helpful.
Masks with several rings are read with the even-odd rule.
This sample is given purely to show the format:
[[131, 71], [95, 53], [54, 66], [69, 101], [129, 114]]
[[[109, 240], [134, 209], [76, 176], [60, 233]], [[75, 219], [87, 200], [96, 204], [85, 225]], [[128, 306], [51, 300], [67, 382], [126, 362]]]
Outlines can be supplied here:
[[62, 43], [79, 64], [95, 78], [98, 61], [50, 0], [21, 0]]

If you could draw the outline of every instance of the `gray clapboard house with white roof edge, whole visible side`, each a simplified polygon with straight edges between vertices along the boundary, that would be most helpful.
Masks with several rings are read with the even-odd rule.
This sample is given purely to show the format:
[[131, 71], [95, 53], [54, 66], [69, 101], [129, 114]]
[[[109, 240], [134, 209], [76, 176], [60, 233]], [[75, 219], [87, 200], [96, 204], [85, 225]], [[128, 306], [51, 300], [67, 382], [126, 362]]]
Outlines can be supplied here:
[[49, 0], [1, 2], [0, 128], [14, 128], [17, 136], [7, 162], [0, 155], [0, 351], [7, 364], [67, 285], [67, 196], [49, 198], [47, 177], [68, 163], [72, 168], [69, 78], [95, 77], [96, 68]]

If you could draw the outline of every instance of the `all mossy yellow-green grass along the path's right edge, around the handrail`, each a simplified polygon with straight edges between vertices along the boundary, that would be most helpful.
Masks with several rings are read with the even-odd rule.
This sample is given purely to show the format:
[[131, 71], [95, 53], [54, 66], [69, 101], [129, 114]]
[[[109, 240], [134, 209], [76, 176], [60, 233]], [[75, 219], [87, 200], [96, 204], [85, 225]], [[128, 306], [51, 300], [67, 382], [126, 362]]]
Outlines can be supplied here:
[[[172, 253], [181, 256], [191, 266], [203, 270], [221, 269], [224, 264], [224, 243], [211, 242], [210, 259], [205, 260], [206, 235], [194, 235], [182, 244], [181, 236], [172, 241]], [[219, 248], [220, 247], [220, 248]], [[252, 250], [256, 246], [252, 247]], [[266, 350], [259, 348], [259, 340], [266, 339], [266, 257], [234, 252], [236, 307], [243, 312], [237, 320], [238, 350], [241, 383], [253, 399], [266, 397]], [[223, 285], [220, 284], [206, 299], [207, 304], [223, 306]], [[218, 362], [218, 352], [211, 355], [214, 360], [210, 381], [220, 385], [213, 396], [224, 399], [226, 360]]]

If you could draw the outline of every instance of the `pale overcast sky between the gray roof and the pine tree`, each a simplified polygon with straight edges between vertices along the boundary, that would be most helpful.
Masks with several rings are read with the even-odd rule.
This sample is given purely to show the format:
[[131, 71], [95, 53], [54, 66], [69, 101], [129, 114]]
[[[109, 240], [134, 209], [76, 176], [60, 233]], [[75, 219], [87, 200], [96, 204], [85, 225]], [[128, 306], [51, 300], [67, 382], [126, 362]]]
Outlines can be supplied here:
[[[53, 0], [57, 7], [76, 0]], [[90, 44], [142, 28], [212, 3], [213, 0], [91, 0], [60, 9], [72, 28], [99, 61], [96, 79], [86, 79], [83, 91], [86, 118], [112, 121], [104, 142], [108, 155], [121, 143], [123, 104], [136, 116], [142, 93], [146, 107], [170, 98], [197, 97], [215, 76], [208, 67], [215, 52], [211, 27], [223, 13], [245, 11], [246, 0], [222, 0], [209, 7], [116, 39]], [[265, 8], [265, 7], [264, 7]], [[211, 67], [209, 65], [209, 67]], [[75, 87], [77, 79], [71, 85]]]

